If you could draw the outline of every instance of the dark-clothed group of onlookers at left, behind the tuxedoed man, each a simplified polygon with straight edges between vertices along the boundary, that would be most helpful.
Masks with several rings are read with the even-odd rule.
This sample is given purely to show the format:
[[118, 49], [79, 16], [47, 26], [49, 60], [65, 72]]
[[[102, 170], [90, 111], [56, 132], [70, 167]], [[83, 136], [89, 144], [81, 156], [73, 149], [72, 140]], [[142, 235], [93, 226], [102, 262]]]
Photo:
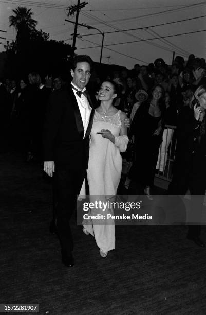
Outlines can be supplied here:
[[19, 80], [0, 79], [2, 150], [20, 151], [26, 161], [41, 161], [47, 101], [53, 90], [63, 87], [60, 77], [48, 87], [35, 72]]

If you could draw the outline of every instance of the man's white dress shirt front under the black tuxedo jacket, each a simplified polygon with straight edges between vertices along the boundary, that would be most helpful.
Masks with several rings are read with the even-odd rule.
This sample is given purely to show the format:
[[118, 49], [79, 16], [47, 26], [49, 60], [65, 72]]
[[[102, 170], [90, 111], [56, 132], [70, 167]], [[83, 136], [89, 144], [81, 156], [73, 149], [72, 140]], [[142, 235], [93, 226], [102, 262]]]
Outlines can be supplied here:
[[[73, 82], [72, 82], [73, 84]], [[73, 84], [74, 88], [76, 88], [77, 90], [78, 87]], [[72, 86], [71, 86], [72, 87]], [[91, 114], [91, 107], [89, 105], [89, 102], [88, 102], [88, 99], [86, 98], [86, 96], [84, 96], [83, 94], [81, 95], [81, 97], [79, 97], [77, 94], [76, 94], [76, 90], [72, 89], [73, 90], [73, 93], [76, 97], [76, 100], [77, 100], [77, 103], [78, 103], [78, 106], [79, 106], [79, 110], [80, 110], [80, 114], [81, 114], [81, 117], [82, 117], [82, 122], [83, 122], [83, 127], [84, 127], [84, 137], [85, 137], [85, 133], [86, 133], [86, 130], [87, 130], [87, 127], [88, 127], [88, 124], [89, 124], [89, 118], [90, 118], [90, 114]], [[82, 90], [85, 91], [86, 88], [84, 88]]]

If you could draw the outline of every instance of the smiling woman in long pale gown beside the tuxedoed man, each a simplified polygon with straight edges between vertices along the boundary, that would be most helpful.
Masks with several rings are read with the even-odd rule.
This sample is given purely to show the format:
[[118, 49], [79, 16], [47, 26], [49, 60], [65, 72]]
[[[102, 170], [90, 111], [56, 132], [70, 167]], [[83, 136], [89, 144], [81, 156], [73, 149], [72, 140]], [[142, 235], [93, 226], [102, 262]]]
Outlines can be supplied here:
[[[87, 178], [90, 202], [107, 202], [117, 193], [122, 171], [120, 152], [126, 150], [128, 143], [127, 128], [124, 124], [126, 114], [113, 106], [117, 97], [117, 85], [113, 81], [105, 81], [99, 90], [100, 106], [95, 111], [91, 130], [89, 165]], [[111, 200], [111, 199], [110, 199]], [[112, 213], [108, 207], [90, 209], [91, 215]], [[108, 251], [115, 249], [115, 223], [112, 219], [86, 220], [83, 232], [95, 237], [100, 255], [106, 257]]]

